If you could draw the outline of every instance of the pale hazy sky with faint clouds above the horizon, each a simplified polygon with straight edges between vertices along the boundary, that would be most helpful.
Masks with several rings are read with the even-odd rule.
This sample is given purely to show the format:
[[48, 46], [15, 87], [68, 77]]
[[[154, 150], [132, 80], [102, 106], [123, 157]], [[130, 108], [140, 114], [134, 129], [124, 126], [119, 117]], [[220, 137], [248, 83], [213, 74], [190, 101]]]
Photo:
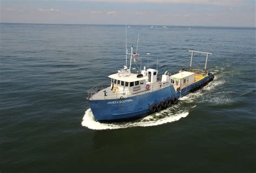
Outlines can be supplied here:
[[255, 0], [0, 0], [0, 22], [255, 27]]

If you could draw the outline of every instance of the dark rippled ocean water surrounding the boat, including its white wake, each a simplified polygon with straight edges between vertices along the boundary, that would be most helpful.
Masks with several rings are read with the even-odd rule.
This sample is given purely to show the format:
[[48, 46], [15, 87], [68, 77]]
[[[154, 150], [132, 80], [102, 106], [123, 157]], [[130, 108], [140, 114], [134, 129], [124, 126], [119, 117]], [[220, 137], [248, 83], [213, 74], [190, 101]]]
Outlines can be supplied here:
[[0, 24], [1, 173], [255, 172], [255, 29], [131, 26], [129, 47], [138, 33], [142, 66], [151, 53], [174, 72], [210, 51], [215, 78], [144, 119], [99, 123], [87, 90], [125, 65], [125, 26]]

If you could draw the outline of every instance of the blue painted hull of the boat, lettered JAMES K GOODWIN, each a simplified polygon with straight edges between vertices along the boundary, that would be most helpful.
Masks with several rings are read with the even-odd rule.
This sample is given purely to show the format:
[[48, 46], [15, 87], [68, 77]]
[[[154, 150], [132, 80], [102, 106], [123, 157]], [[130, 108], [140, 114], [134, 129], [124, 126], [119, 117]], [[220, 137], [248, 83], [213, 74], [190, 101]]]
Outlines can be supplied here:
[[179, 99], [182, 96], [189, 94], [196, 86], [203, 86], [207, 80], [212, 78], [212, 74], [204, 79], [175, 91], [171, 85], [157, 91], [145, 93], [141, 95], [131, 96], [125, 99], [112, 100], [89, 100], [92, 113], [96, 121], [123, 121], [139, 119], [151, 113], [149, 105], [158, 104], [161, 101], [170, 98]]

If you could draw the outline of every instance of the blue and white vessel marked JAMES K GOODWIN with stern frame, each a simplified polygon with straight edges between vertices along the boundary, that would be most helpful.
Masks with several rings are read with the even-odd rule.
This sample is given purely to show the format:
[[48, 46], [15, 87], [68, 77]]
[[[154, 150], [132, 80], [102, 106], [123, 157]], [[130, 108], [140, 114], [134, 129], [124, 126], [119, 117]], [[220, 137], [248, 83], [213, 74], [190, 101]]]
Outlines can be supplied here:
[[[137, 44], [138, 45], [138, 44]], [[154, 112], [172, 106], [190, 93], [203, 88], [214, 78], [207, 70], [207, 59], [211, 52], [189, 50], [190, 68], [182, 68], [175, 73], [165, 72], [158, 78], [158, 69], [144, 66], [138, 71], [131, 69], [137, 65], [139, 54], [127, 53], [126, 65], [109, 75], [107, 83], [96, 85], [87, 91], [87, 101], [96, 121], [127, 121], [140, 119]], [[193, 54], [206, 54], [204, 69], [193, 69]], [[149, 54], [149, 53], [147, 53]], [[130, 66], [127, 67], [127, 55]]]

